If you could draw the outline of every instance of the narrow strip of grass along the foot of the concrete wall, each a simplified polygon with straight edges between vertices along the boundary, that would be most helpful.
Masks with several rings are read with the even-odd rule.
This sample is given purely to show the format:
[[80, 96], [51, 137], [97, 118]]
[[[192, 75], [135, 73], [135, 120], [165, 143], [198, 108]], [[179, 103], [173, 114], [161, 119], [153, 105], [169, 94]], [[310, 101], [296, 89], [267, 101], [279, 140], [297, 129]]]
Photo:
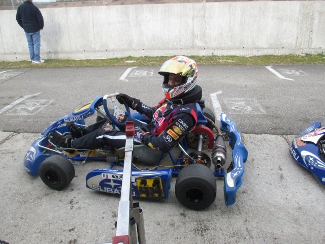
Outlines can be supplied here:
[[[53, 68], [53, 67], [100, 67], [100, 66], [144, 66], [163, 64], [172, 56], [158, 57], [123, 57], [107, 59], [46, 59], [44, 64], [32, 65], [30, 61], [0, 62], [0, 69], [18, 68]], [[261, 55], [261, 56], [189, 56], [198, 65], [280, 65], [280, 64], [325, 64], [324, 54], [290, 54], [290, 55]], [[128, 63], [127, 61], [135, 61]]]

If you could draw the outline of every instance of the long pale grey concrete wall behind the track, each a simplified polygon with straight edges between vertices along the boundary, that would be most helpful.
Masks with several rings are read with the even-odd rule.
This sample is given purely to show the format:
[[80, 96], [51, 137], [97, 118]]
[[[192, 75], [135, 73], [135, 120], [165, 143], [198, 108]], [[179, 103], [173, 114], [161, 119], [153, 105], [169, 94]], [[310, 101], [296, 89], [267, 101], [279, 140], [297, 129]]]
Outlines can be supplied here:
[[[325, 1], [148, 4], [41, 9], [41, 56], [322, 53]], [[16, 11], [0, 11], [0, 60], [29, 59]]]

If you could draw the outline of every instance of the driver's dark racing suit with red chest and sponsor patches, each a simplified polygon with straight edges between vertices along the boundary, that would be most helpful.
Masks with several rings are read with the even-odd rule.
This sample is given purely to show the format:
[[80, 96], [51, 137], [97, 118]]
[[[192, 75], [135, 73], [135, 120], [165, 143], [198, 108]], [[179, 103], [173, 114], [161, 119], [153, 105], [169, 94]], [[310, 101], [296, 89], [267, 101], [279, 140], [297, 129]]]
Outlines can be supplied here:
[[[140, 137], [135, 137], [135, 144], [145, 144], [164, 152], [173, 148], [197, 123], [195, 102], [173, 105], [163, 99], [155, 107], [149, 107], [140, 102], [137, 111], [151, 119], [151, 123], [146, 124], [132, 119], [136, 132], [140, 131], [141, 134]], [[104, 146], [114, 146], [114, 148], [125, 146], [125, 132], [113, 130], [107, 120], [89, 126], [85, 132], [84, 136], [72, 141], [74, 148], [96, 149]]]

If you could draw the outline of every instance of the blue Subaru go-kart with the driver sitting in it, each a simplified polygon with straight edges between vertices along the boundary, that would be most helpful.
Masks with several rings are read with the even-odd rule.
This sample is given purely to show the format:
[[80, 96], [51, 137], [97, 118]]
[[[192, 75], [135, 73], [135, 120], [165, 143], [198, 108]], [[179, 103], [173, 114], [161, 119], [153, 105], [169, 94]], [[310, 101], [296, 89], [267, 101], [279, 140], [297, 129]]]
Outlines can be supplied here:
[[[106, 118], [113, 129], [123, 130], [127, 120], [148, 119], [138, 112], [131, 114], [128, 106], [120, 109], [115, 94], [98, 97], [72, 113], [54, 121], [36, 139], [26, 153], [24, 169], [32, 176], [40, 175], [48, 187], [61, 190], [67, 187], [75, 176], [73, 165], [89, 161], [105, 161], [108, 167], [94, 169], [86, 175], [86, 187], [92, 190], [120, 194], [123, 179], [124, 148], [99, 148], [96, 150], [60, 148], [48, 140], [50, 132], [71, 137], [67, 123], [86, 127], [85, 119], [93, 114]], [[108, 108], [111, 102], [113, 109]], [[119, 105], [119, 106], [118, 106]], [[203, 209], [211, 205], [216, 197], [216, 179], [224, 178], [224, 201], [234, 204], [236, 191], [242, 184], [247, 149], [242, 134], [235, 123], [224, 113], [220, 115], [220, 128], [215, 126], [215, 116], [204, 105], [204, 99], [197, 103], [198, 123], [182, 139], [178, 146], [168, 153], [153, 150], [145, 145], [135, 145], [133, 151], [132, 195], [139, 198], [166, 199], [169, 195], [172, 176], [177, 176], [175, 194], [181, 204], [192, 209]], [[124, 111], [125, 110], [125, 111]], [[124, 119], [125, 120], [125, 119]], [[213, 133], [216, 130], [216, 135]], [[229, 141], [229, 146], [225, 145]], [[227, 160], [227, 147], [232, 148], [231, 160]], [[207, 152], [211, 153], [211, 157]], [[145, 168], [139, 165], [145, 164]], [[148, 168], [147, 165], [151, 167]], [[154, 166], [152, 165], [154, 164]]]

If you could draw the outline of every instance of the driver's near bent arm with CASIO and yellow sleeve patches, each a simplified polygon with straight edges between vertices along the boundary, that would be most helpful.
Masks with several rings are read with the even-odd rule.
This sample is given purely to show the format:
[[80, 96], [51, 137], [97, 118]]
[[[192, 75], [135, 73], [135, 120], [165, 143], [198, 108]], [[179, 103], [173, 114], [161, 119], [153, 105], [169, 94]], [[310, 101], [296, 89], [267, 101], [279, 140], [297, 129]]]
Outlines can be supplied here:
[[196, 120], [191, 114], [179, 113], [173, 117], [169, 126], [159, 136], [146, 134], [142, 140], [145, 145], [167, 153], [193, 129], [195, 124]]

